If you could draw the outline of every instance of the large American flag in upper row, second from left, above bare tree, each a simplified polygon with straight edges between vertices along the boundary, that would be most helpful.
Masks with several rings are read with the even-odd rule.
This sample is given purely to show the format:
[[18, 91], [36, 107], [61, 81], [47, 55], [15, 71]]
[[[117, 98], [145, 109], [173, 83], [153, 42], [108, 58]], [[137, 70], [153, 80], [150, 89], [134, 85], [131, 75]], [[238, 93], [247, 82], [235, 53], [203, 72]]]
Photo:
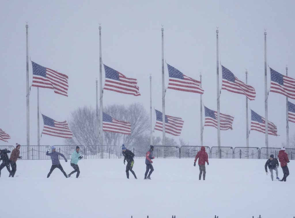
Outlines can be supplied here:
[[104, 89], [114, 92], [139, 96], [139, 87], [137, 86], [137, 79], [127, 78], [117, 70], [104, 65], [106, 73], [106, 80]]

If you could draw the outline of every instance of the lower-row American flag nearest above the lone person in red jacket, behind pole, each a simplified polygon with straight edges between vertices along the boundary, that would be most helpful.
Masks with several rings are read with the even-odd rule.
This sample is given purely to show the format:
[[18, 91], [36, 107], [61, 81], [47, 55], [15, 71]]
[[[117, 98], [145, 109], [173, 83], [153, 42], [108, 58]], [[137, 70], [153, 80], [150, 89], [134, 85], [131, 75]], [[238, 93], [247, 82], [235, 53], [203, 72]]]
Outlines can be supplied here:
[[[205, 124], [204, 126], [213, 126], [217, 128], [217, 111], [210, 110], [205, 107]], [[230, 115], [226, 115], [224, 113], [220, 114], [220, 130], [228, 130], [232, 129], [232, 122], [234, 118]]]

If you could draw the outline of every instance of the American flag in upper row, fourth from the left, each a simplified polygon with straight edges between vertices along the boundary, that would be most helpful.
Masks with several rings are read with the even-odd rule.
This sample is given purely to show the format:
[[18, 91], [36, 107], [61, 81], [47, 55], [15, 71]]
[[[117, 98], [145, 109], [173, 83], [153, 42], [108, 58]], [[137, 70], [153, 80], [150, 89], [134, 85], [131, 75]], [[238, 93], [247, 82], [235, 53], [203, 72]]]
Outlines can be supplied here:
[[255, 89], [239, 80], [230, 70], [222, 67], [222, 89], [227, 91], [246, 95], [249, 100], [254, 100], [256, 96]]

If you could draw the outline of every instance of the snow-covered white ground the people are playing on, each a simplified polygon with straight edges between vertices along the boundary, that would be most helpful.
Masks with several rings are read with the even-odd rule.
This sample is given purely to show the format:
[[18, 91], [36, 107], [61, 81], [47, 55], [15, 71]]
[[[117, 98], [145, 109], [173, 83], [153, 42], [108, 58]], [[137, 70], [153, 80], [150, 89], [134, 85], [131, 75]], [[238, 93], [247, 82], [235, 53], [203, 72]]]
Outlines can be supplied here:
[[[70, 161], [61, 164], [68, 174]], [[135, 159], [126, 179], [123, 159], [79, 161], [80, 177], [59, 169], [46, 178], [50, 160], [17, 161], [16, 177], [1, 171], [0, 217], [262, 218], [295, 216], [295, 161], [287, 182], [271, 181], [266, 160], [209, 159], [199, 181], [193, 159], [155, 159], [144, 180], [145, 159]], [[279, 167], [279, 177], [282, 169]]]

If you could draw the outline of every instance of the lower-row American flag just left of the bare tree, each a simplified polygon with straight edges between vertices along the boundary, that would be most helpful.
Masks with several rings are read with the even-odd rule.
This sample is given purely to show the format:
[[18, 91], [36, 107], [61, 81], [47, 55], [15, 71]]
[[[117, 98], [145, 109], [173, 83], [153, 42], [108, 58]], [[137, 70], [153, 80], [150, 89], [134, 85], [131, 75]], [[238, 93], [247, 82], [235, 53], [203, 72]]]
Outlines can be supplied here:
[[68, 127], [67, 121], [57, 122], [42, 114], [44, 128], [41, 134], [56, 136], [61, 138], [72, 138], [73, 133]]

